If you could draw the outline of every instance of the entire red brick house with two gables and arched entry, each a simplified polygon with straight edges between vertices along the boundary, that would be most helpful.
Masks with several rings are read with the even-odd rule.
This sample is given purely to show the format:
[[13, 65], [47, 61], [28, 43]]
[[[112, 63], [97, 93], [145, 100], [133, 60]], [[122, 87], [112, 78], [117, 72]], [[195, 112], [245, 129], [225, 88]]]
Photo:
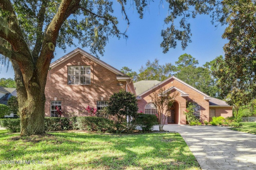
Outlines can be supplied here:
[[204, 94], [178, 78], [172, 76], [163, 82], [143, 80], [133, 84], [129, 76], [80, 48], [50, 65], [45, 87], [45, 116], [58, 116], [55, 106], [61, 107], [65, 113], [75, 112], [77, 116], [88, 116], [79, 111], [88, 105], [98, 110], [108, 106], [109, 97], [121, 89], [137, 96], [138, 113], [142, 111], [155, 114], [149, 95], [159, 87], [179, 94], [166, 123], [186, 124], [183, 114], [186, 101], [194, 103], [194, 114], [200, 120], [209, 120], [213, 116], [232, 116], [232, 106]]

